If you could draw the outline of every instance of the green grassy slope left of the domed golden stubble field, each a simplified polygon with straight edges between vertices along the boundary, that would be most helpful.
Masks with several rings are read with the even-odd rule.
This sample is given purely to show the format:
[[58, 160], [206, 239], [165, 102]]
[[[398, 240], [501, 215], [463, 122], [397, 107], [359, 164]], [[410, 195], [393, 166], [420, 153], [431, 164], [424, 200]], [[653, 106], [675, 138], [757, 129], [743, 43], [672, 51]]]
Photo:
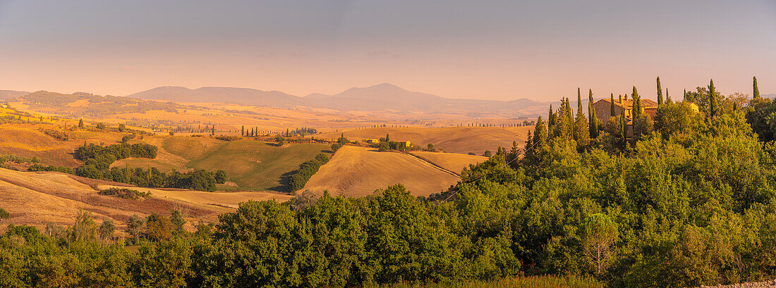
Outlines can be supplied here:
[[223, 142], [200, 137], [170, 137], [163, 146], [169, 153], [189, 159], [186, 166], [226, 170], [241, 188], [286, 191], [284, 175], [328, 149], [324, 144], [291, 144], [253, 140]]

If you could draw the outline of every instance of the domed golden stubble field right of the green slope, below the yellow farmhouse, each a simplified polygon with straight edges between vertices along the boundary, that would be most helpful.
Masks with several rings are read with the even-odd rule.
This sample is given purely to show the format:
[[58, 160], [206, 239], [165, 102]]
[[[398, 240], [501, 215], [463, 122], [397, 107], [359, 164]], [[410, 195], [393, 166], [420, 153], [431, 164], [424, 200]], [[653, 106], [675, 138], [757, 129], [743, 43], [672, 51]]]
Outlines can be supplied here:
[[411, 155], [343, 146], [303, 190], [315, 194], [328, 190], [335, 196], [360, 197], [401, 183], [416, 196], [428, 196], [447, 190], [458, 181], [456, 175]]

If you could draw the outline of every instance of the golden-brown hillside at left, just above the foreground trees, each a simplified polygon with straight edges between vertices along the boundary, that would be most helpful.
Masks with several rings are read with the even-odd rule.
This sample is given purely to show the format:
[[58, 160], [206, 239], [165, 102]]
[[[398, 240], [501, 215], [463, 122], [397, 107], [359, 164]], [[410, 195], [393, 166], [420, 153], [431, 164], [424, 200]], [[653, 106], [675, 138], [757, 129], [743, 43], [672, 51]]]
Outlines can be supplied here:
[[[19, 172], [0, 168], [0, 203], [11, 213], [4, 224], [35, 225], [39, 228], [48, 222], [72, 225], [79, 209], [91, 211], [99, 220], [113, 219], [123, 225], [133, 214], [168, 214], [170, 209], [187, 211], [190, 219], [214, 221], [217, 214], [230, 211], [238, 202], [248, 200], [277, 199], [286, 201], [289, 196], [263, 192], [210, 193], [189, 190], [151, 189], [151, 197], [133, 201], [97, 194], [95, 187], [105, 189], [115, 184], [74, 177], [54, 172]], [[147, 191], [147, 188], [133, 188]]]

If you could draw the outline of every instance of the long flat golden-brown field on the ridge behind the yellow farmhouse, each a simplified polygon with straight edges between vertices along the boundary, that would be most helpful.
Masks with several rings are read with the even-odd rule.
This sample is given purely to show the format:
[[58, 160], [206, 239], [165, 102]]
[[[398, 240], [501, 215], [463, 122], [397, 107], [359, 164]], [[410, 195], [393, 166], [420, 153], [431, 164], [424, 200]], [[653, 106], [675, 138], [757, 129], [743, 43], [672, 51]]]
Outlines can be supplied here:
[[390, 135], [393, 141], [410, 141], [418, 146], [434, 144], [448, 153], [496, 152], [498, 146], [511, 147], [513, 141], [524, 145], [532, 127], [445, 127], [445, 128], [367, 128], [315, 135], [317, 139], [338, 139], [341, 134], [349, 140], [379, 139]]

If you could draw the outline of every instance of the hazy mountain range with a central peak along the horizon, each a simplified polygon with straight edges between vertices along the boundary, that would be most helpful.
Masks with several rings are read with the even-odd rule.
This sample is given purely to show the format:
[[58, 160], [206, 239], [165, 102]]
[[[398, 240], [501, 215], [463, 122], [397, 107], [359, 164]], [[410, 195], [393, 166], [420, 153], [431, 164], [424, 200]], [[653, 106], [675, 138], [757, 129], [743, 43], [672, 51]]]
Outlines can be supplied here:
[[128, 95], [130, 98], [175, 102], [219, 102], [279, 108], [327, 108], [338, 111], [393, 111], [409, 114], [459, 114], [468, 117], [532, 117], [543, 113], [549, 102], [442, 98], [407, 91], [393, 84], [352, 87], [339, 94], [309, 94], [305, 97], [281, 91], [234, 87], [156, 87]]

